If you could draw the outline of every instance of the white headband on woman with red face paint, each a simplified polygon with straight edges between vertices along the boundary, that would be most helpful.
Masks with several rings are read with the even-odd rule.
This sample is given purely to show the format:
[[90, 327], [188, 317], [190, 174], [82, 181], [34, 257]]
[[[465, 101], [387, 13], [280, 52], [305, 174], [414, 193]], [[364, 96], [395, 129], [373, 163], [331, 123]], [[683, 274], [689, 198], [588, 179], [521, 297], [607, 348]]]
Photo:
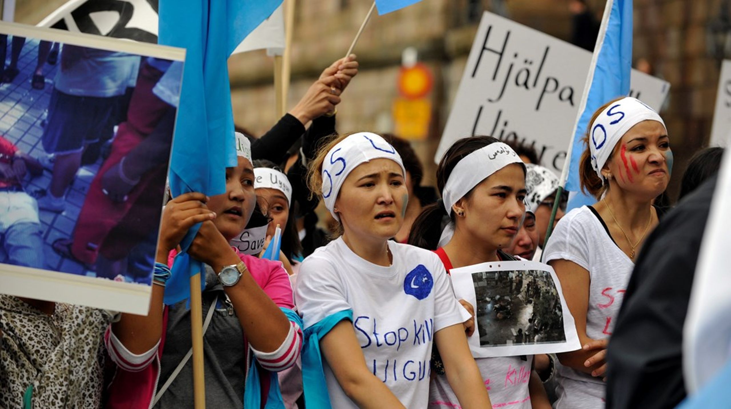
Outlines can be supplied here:
[[632, 126], [642, 121], [657, 121], [667, 130], [667, 126], [651, 107], [648, 107], [637, 98], [627, 96], [619, 101], [610, 104], [591, 123], [589, 134], [589, 150], [591, 151], [591, 167], [596, 175], [605, 181], [602, 175], [602, 168], [612, 154], [624, 134]]

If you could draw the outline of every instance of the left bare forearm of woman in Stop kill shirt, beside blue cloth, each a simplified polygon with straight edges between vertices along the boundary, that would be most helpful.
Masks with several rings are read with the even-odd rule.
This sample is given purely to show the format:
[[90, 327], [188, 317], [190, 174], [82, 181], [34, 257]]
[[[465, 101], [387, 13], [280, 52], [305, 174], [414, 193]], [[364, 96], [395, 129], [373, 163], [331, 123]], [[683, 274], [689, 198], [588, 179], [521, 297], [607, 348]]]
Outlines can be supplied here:
[[368, 370], [350, 321], [340, 321], [320, 340], [322, 356], [345, 394], [358, 408], [404, 408], [398, 398]]

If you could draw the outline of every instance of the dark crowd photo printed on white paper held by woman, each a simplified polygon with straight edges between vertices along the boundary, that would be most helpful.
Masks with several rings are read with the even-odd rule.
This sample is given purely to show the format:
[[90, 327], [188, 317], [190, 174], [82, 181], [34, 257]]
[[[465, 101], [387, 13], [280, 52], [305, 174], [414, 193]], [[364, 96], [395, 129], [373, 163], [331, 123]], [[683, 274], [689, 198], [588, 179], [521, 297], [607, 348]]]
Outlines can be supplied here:
[[550, 272], [475, 272], [472, 281], [480, 346], [566, 340], [561, 299]]

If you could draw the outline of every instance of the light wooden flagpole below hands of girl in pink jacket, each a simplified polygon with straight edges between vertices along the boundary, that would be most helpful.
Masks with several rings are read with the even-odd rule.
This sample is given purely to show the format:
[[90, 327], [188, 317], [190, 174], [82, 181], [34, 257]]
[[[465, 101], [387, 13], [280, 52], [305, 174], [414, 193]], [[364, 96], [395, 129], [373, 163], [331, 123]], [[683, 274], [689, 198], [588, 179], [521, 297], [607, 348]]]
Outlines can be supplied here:
[[[190, 278], [190, 332], [193, 343], [193, 399], [195, 409], [205, 409], [203, 375], [203, 303], [200, 295], [200, 272]], [[211, 305], [211, 308], [216, 307]]]

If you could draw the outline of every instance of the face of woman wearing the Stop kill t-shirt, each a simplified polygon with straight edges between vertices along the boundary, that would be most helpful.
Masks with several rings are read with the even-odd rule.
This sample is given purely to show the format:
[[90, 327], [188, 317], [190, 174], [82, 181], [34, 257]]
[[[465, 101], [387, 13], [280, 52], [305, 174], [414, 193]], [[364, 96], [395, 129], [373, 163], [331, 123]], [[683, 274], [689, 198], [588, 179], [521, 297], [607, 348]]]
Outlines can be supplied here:
[[350, 240], [388, 240], [404, 223], [409, 194], [395, 161], [378, 158], [358, 165], [345, 178], [335, 207]]

